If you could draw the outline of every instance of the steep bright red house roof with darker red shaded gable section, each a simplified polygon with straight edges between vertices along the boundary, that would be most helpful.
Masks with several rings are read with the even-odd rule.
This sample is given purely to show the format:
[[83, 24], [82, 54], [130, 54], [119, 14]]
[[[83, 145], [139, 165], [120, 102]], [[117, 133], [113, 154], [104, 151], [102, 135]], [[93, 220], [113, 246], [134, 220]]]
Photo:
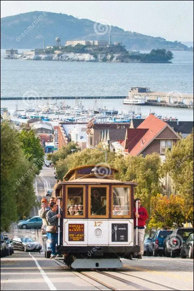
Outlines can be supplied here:
[[137, 129], [127, 129], [129, 154], [139, 155], [167, 126], [166, 122], [150, 114]]

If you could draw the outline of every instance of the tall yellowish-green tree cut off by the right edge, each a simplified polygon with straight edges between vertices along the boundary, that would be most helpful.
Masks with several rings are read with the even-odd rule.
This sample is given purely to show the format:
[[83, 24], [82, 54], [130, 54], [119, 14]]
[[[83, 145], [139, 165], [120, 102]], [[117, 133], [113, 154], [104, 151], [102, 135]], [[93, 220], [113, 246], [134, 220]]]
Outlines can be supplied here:
[[176, 193], [184, 201], [182, 211], [185, 220], [193, 224], [194, 133], [178, 141], [171, 151], [167, 151], [162, 171], [164, 174], [168, 173], [171, 176]]

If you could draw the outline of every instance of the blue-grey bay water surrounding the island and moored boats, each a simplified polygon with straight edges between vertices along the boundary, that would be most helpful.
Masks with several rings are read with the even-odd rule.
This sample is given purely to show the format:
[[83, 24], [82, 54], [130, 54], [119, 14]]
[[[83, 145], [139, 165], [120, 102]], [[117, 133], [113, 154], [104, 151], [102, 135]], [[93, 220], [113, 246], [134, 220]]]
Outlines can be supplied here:
[[[193, 93], [193, 53], [175, 51], [172, 64], [82, 63], [4, 60], [1, 50], [1, 97], [22, 96], [127, 96], [131, 86], [146, 86], [152, 91]], [[100, 105], [126, 112], [122, 99], [103, 100]], [[74, 100], [66, 100], [74, 106]], [[94, 100], [83, 100], [93, 108]], [[25, 109], [29, 101], [19, 100]], [[37, 106], [36, 101], [31, 102]], [[16, 101], [1, 101], [1, 107], [13, 111]], [[150, 107], [142, 106], [143, 115]], [[151, 107], [158, 114], [193, 120], [193, 110]], [[32, 114], [31, 114], [32, 115]]]

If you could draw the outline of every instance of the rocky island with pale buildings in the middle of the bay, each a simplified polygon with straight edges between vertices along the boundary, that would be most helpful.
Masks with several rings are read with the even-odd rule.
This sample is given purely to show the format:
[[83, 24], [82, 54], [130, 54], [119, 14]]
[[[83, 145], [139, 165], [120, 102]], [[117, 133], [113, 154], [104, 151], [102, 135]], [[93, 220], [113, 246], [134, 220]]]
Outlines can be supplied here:
[[173, 53], [165, 49], [152, 49], [149, 53], [128, 51], [121, 43], [106, 47], [94, 45], [69, 45], [23, 51], [22, 54], [9, 53], [5, 59], [65, 62], [104, 63], [171, 63]]

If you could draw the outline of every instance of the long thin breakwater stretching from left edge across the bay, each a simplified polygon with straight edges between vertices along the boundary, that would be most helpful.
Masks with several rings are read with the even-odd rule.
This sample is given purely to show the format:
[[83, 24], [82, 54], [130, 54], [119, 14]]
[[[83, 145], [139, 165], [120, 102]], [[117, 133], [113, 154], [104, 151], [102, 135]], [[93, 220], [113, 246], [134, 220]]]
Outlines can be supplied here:
[[56, 97], [0, 97], [0, 100], [49, 100], [49, 99], [125, 99], [126, 96], [56, 96]]

